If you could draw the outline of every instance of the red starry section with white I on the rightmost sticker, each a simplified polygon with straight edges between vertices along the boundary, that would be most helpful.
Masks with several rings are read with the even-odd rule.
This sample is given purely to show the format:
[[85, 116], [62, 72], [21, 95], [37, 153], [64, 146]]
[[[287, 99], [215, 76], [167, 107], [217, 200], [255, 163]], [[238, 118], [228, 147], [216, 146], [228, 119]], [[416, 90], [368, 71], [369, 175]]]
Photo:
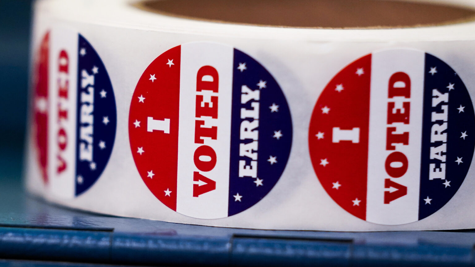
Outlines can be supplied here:
[[325, 87], [309, 129], [310, 156], [323, 188], [361, 219], [366, 218], [370, 83], [368, 55], [345, 67]]

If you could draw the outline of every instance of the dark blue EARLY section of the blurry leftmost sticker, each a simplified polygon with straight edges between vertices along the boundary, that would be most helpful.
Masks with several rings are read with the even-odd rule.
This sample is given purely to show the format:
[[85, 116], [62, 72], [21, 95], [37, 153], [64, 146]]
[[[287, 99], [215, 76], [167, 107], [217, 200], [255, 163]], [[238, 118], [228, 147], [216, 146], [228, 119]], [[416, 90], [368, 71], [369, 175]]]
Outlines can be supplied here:
[[81, 35], [77, 53], [76, 196], [104, 171], [117, 125], [114, 91], [104, 63]]

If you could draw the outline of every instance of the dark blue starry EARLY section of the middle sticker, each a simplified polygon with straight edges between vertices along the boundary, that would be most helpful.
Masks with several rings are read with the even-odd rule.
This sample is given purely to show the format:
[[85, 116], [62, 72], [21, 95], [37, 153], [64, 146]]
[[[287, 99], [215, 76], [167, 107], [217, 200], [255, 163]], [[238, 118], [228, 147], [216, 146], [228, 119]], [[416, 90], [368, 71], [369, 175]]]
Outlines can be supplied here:
[[284, 172], [292, 121], [274, 77], [234, 49], [228, 216], [256, 204]]

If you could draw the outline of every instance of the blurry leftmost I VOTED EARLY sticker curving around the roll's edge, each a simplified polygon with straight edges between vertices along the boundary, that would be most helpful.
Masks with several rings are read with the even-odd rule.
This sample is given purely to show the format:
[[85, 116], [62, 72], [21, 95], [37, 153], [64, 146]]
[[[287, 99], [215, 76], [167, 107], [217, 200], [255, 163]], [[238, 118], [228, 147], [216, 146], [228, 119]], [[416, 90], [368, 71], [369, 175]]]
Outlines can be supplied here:
[[115, 139], [116, 107], [104, 63], [77, 32], [53, 29], [36, 64], [34, 139], [41, 177], [61, 197], [99, 179]]

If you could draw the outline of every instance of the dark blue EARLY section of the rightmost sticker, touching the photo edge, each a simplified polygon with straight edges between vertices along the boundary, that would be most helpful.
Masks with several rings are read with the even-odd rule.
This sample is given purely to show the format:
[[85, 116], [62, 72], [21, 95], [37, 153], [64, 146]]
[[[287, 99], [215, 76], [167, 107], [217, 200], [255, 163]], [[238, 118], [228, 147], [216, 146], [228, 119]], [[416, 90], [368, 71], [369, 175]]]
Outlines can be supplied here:
[[475, 115], [470, 95], [456, 72], [426, 54], [419, 219], [444, 206], [456, 193], [472, 162]]

